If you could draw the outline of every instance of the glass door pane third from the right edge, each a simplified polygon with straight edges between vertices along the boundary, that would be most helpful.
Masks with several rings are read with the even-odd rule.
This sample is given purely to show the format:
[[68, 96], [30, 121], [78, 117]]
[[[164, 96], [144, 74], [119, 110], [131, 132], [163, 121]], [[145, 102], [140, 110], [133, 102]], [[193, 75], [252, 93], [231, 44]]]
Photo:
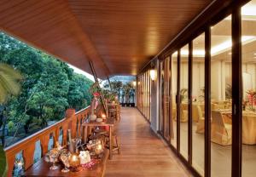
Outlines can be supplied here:
[[192, 166], [203, 176], [205, 156], [205, 34], [193, 40]]

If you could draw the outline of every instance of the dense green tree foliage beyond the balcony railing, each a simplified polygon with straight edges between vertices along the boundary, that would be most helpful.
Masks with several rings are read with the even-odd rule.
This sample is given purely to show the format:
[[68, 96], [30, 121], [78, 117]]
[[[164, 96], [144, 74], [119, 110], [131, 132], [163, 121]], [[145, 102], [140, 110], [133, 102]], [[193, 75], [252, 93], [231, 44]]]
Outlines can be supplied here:
[[6, 110], [6, 122], [21, 123], [26, 132], [32, 122], [44, 128], [49, 120], [64, 117], [67, 108], [79, 110], [90, 104], [88, 90], [93, 83], [90, 79], [74, 73], [65, 62], [3, 32], [0, 32], [0, 62], [22, 74], [20, 94], [9, 96], [0, 108]]

